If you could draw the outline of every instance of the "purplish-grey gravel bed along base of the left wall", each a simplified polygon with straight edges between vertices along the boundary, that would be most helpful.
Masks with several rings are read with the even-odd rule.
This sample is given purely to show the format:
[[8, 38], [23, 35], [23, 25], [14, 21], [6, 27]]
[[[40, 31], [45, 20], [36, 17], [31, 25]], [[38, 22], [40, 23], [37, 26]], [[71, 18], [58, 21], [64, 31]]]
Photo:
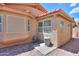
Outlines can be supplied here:
[[37, 45], [38, 43], [29, 43], [29, 44], [15, 45], [6, 48], [0, 48], [0, 56], [15, 56], [17, 54], [31, 51]]

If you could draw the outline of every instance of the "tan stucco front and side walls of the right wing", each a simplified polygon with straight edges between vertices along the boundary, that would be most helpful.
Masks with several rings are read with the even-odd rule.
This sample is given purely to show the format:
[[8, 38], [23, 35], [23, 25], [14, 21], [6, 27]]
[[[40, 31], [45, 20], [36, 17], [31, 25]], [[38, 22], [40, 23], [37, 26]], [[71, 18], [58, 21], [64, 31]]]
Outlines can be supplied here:
[[[52, 36], [51, 36], [51, 42], [52, 44], [54, 44], [55, 47], [60, 47], [63, 44], [67, 43], [71, 37], [72, 37], [72, 25], [68, 26], [68, 23], [71, 24], [70, 21], [66, 20], [63, 17], [57, 16], [57, 14], [48, 16], [48, 17], [43, 17], [42, 19], [40, 19], [38, 22], [40, 21], [44, 21], [44, 20], [51, 20], [52, 21]], [[60, 26], [60, 22], [64, 21], [64, 26], [61, 27]], [[38, 37], [41, 40], [43, 39], [43, 34], [38, 32]]]

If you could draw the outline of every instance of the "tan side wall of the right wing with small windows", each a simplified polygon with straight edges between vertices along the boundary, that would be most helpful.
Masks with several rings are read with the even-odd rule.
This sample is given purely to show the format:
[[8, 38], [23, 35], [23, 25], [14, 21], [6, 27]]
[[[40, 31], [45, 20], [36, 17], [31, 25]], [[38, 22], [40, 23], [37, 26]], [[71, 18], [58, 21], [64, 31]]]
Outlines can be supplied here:
[[[72, 37], [72, 25], [71, 26], [68, 26], [67, 24], [71, 22], [67, 21], [67, 20], [64, 20], [64, 18], [62, 17], [57, 17], [57, 37], [58, 37], [58, 40], [57, 40], [57, 46], [61, 46], [63, 44], [66, 44]], [[61, 21], [64, 21], [64, 26], [61, 27], [60, 26], [60, 22]]]

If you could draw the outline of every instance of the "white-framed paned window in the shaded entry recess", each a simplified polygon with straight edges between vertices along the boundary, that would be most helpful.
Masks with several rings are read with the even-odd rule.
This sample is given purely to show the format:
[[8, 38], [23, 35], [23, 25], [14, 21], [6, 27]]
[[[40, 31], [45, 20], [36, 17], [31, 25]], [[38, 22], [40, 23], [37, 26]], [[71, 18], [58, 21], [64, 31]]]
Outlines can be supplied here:
[[50, 33], [51, 28], [52, 28], [51, 20], [45, 20], [38, 23], [38, 32]]

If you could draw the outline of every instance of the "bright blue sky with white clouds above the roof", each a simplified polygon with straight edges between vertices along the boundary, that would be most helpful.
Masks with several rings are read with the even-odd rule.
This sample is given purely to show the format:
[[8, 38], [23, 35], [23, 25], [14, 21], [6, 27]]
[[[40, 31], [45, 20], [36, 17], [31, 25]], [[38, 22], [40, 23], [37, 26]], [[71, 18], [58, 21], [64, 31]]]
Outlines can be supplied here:
[[79, 22], [79, 3], [41, 3], [41, 5], [49, 12], [61, 8]]

